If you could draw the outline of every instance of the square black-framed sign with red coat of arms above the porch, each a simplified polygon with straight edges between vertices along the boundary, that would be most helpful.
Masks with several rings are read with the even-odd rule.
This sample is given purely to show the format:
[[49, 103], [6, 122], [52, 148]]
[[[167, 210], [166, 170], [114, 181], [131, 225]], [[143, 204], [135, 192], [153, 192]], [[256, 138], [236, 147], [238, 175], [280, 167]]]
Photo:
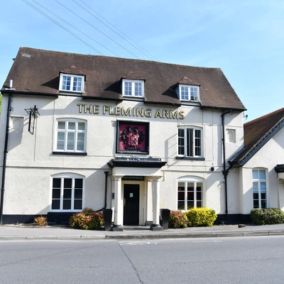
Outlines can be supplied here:
[[117, 121], [117, 153], [149, 153], [149, 124]]

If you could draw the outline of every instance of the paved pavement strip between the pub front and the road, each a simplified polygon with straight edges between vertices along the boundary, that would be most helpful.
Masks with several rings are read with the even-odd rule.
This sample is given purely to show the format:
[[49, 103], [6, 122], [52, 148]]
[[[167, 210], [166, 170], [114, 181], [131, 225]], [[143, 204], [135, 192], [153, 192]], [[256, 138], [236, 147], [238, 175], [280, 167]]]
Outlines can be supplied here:
[[64, 226], [0, 226], [0, 241], [33, 239], [173, 239], [207, 238], [224, 236], [274, 236], [284, 235], [284, 224], [254, 226], [220, 225], [185, 229], [151, 231], [149, 226], [124, 226], [124, 231], [90, 231]]

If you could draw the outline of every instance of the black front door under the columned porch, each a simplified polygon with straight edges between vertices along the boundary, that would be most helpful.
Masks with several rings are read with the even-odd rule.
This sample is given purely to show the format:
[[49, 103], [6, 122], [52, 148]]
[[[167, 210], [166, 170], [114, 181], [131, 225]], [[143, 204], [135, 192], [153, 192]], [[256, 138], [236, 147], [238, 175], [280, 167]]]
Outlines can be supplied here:
[[139, 185], [124, 185], [124, 225], [139, 224]]

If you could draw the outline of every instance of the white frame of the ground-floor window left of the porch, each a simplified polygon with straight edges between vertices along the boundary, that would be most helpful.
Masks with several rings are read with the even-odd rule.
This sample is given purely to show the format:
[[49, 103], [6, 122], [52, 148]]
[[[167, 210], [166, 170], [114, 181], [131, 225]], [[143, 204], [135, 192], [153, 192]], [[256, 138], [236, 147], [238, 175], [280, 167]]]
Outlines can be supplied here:
[[[53, 180], [54, 179], [60, 179], [60, 187], [53, 187]], [[71, 180], [71, 187], [64, 187], [64, 180], [70, 179]], [[75, 180], [82, 180], [82, 187], [75, 187]], [[76, 175], [76, 174], [68, 174], [68, 173], [64, 173], [64, 174], [58, 174], [58, 175], [53, 175], [51, 177], [51, 197], [50, 197], [50, 212], [81, 212], [82, 209], [84, 208], [84, 184], [85, 184], [85, 180], [84, 180], [84, 176], [82, 175]], [[58, 198], [58, 195], [54, 195], [54, 191], [53, 190], [59, 190], [60, 191], [60, 195]], [[65, 190], [71, 190], [71, 196], [66, 196], [65, 194], [67, 192], [65, 192]], [[80, 195], [79, 192], [79, 197], [77, 195], [75, 195], [76, 190], [82, 190], [82, 195]], [[78, 194], [78, 193], [77, 193]], [[68, 198], [67, 198], [68, 197]], [[57, 204], [53, 204], [53, 201], [59, 200], [59, 208], [58, 206], [55, 206], [55, 208], [53, 208], [53, 205], [57, 205]], [[70, 208], [68, 209], [64, 209], [64, 207], [67, 205], [65, 204], [65, 201], [68, 202], [70, 200]], [[80, 208], [75, 208], [76, 207], [76, 203], [77, 203], [77, 207], [78, 207], [78, 201], [79, 204], [81, 202], [81, 206]]]

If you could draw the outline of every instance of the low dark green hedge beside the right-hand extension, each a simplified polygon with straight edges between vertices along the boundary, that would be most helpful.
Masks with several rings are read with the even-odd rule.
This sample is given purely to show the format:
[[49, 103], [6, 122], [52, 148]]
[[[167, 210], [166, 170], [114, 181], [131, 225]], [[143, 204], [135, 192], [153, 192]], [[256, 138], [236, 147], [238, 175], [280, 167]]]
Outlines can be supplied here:
[[252, 209], [251, 221], [256, 225], [283, 224], [284, 212], [278, 208]]

